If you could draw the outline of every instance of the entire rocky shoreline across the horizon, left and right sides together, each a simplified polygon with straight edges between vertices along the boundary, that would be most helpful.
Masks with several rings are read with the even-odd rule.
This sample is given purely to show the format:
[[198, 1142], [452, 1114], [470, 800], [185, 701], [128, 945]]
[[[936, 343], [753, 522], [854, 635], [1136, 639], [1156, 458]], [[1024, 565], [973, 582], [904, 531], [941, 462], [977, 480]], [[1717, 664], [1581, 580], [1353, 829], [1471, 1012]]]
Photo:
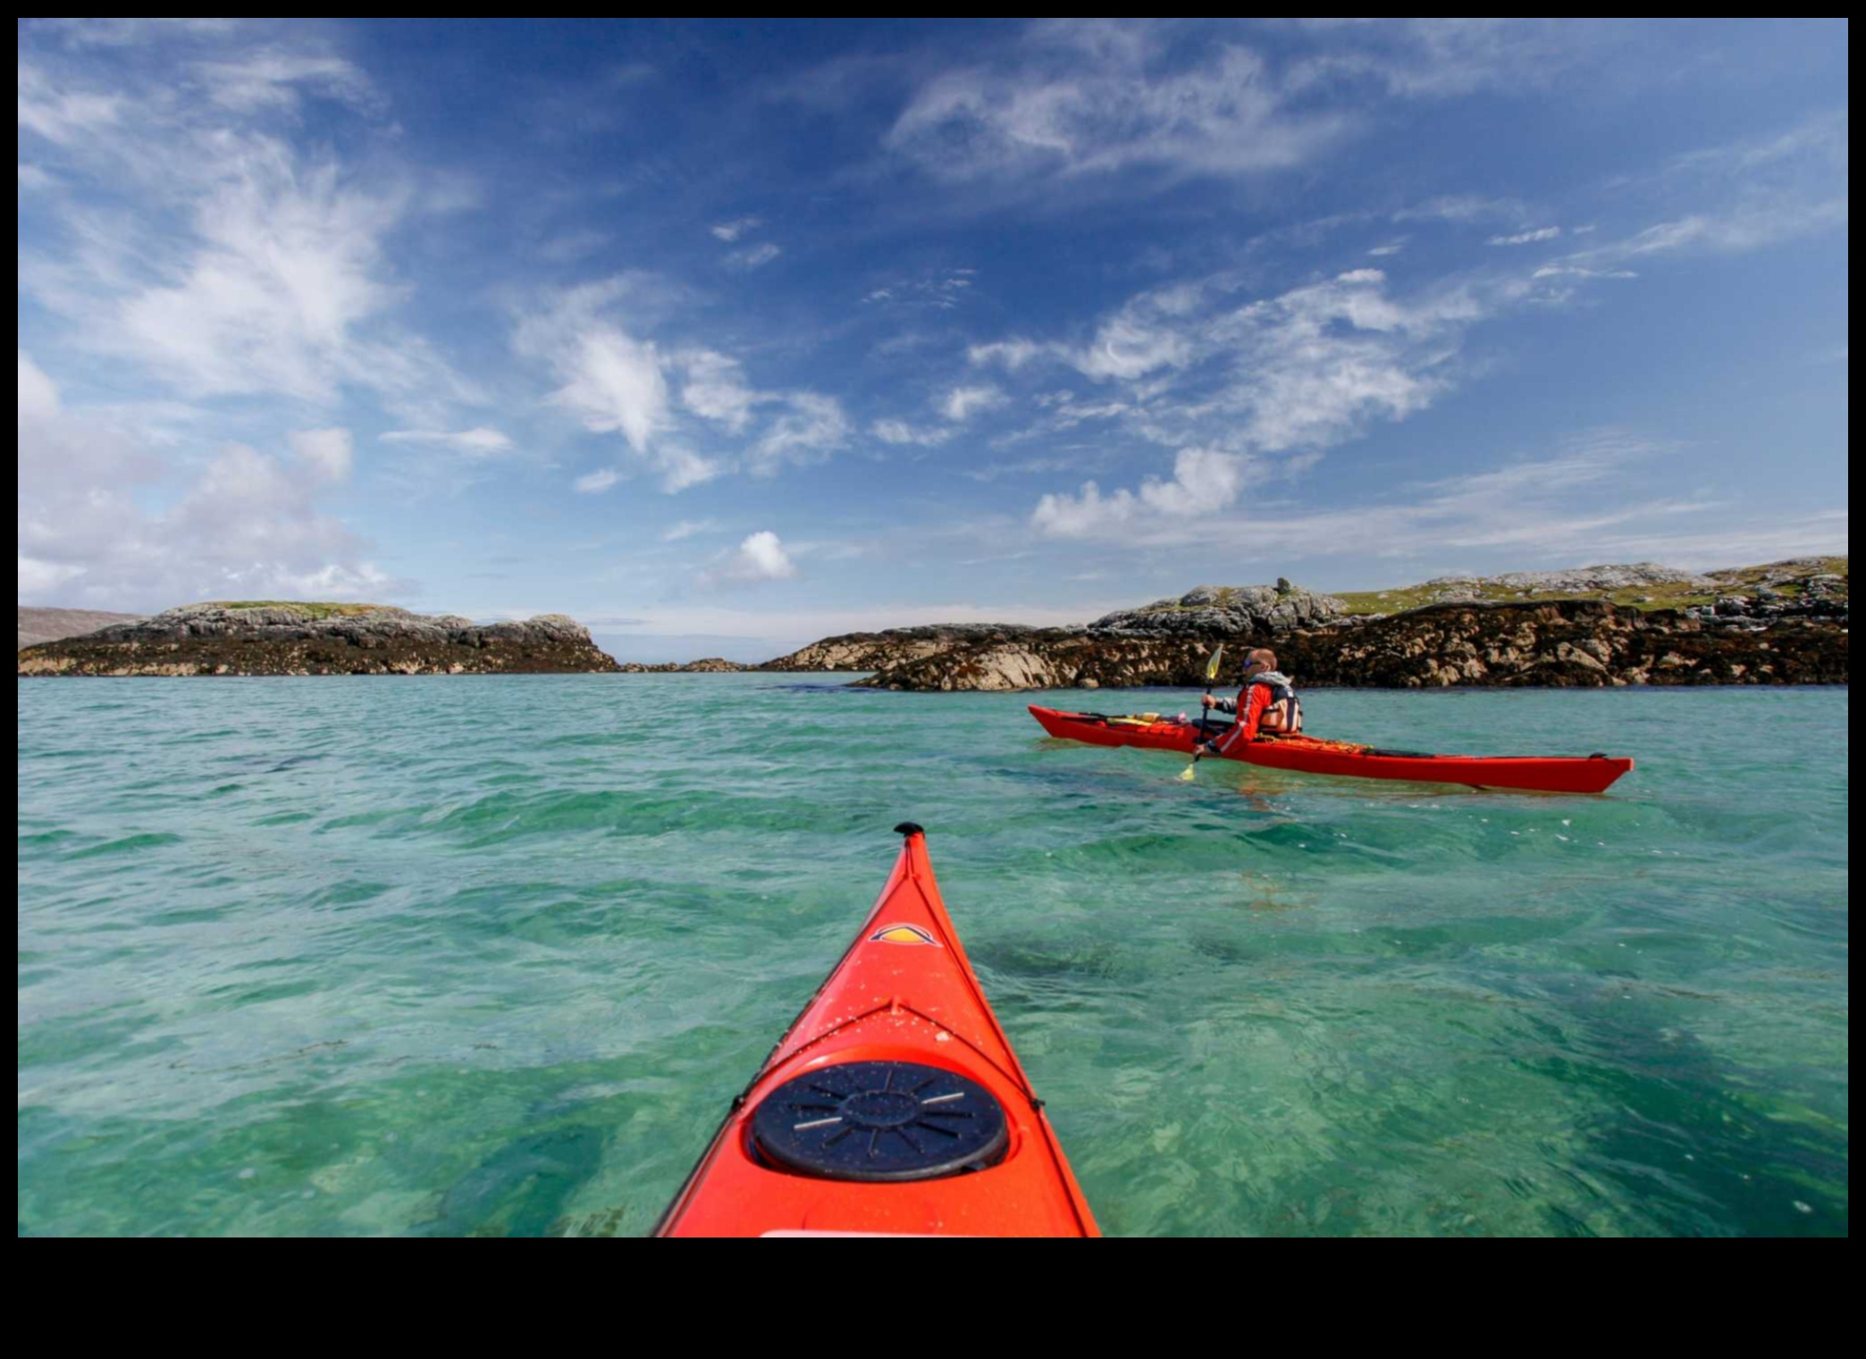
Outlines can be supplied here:
[[[1582, 595], [1582, 597], [1577, 597]], [[1388, 609], [1388, 605], [1394, 605]], [[21, 610], [28, 625], [60, 625]], [[1075, 629], [942, 623], [827, 637], [763, 665], [618, 665], [564, 614], [474, 623], [383, 605], [170, 609], [19, 651], [22, 676], [864, 672], [870, 689], [1204, 685], [1205, 657], [1269, 646], [1304, 687], [1847, 683], [1847, 558], [1691, 575], [1651, 562], [1441, 577], [1327, 595], [1198, 586]]]

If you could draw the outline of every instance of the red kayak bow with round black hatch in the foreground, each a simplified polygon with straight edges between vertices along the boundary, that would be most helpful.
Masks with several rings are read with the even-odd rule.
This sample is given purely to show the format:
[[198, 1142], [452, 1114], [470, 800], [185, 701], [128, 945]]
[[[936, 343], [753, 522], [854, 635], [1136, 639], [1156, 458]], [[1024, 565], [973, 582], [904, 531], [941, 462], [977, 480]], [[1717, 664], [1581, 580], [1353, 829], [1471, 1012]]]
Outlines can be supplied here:
[[1099, 1236], [985, 1002], [926, 834], [655, 1236]]

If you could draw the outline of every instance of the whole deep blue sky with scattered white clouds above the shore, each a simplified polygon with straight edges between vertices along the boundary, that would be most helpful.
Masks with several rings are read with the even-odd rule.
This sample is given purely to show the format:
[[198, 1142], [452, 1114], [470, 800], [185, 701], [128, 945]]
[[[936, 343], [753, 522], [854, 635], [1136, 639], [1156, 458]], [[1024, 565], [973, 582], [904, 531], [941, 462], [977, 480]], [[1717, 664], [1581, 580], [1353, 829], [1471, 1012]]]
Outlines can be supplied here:
[[21, 603], [625, 659], [1847, 545], [1836, 22], [22, 22]]

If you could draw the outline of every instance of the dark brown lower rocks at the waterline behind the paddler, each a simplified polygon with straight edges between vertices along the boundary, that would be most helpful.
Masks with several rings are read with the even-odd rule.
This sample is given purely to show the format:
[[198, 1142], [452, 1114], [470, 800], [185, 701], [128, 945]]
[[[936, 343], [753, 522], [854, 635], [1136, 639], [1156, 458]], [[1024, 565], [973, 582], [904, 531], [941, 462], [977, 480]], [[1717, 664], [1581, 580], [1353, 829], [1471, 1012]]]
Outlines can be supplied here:
[[[1306, 687], [1845, 683], [1847, 631], [1782, 618], [1762, 635], [1603, 599], [1441, 603], [1254, 638], [1037, 631], [959, 642], [877, 670], [875, 689], [1204, 687], [1218, 640], [1273, 646]], [[1226, 678], [1235, 670], [1226, 665]]]

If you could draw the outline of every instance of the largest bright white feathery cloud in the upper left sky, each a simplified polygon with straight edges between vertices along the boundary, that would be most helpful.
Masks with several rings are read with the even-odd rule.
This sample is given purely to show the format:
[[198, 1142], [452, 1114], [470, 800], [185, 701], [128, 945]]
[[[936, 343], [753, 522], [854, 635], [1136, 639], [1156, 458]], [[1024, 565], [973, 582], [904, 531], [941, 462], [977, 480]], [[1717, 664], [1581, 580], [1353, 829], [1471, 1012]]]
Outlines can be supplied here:
[[384, 241], [409, 181], [386, 162], [358, 175], [328, 149], [300, 155], [254, 125], [254, 99], [284, 99], [258, 90], [328, 86], [341, 65], [287, 52], [207, 63], [192, 88], [230, 95], [215, 103], [134, 78], [104, 93], [22, 62], [22, 127], [58, 146], [65, 230], [22, 248], [21, 287], [75, 323], [77, 343], [187, 396], [478, 399], [392, 319], [407, 289]]

